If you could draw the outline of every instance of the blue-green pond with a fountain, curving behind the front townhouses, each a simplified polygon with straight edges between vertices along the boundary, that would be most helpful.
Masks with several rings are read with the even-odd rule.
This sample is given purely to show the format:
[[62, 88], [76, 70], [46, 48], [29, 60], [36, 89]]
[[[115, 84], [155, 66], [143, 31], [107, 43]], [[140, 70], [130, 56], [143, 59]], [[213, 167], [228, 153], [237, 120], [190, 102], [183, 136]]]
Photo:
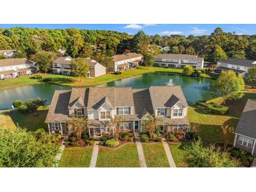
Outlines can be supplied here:
[[[210, 85], [213, 85], [213, 82], [214, 80], [209, 78], [180, 76], [179, 74], [151, 73], [125, 78], [119, 81], [112, 81], [100, 86], [149, 88], [150, 85], [180, 85], [187, 102], [194, 104], [198, 100], [209, 100], [212, 98]], [[39, 84], [0, 90], [0, 109], [11, 108], [15, 100], [25, 101], [36, 97], [46, 99], [48, 104], [50, 104], [54, 91], [60, 89], [65, 90], [71, 88], [61, 85]]]

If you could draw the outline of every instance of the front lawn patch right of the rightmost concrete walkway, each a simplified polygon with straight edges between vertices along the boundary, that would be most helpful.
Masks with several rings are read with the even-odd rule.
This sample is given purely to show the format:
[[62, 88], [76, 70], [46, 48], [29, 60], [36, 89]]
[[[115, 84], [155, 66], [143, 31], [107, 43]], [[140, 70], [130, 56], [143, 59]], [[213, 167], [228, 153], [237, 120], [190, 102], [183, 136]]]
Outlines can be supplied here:
[[184, 161], [187, 153], [184, 147], [187, 145], [189, 145], [189, 143], [169, 144], [170, 153], [172, 153], [176, 167], [187, 167], [187, 164]]

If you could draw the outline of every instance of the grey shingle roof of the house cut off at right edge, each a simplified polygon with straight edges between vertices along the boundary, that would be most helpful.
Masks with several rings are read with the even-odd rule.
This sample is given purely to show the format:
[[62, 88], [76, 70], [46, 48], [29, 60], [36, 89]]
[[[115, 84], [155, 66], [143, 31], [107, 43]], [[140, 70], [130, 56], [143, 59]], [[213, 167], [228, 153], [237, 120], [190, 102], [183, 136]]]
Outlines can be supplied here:
[[236, 133], [256, 139], [256, 100], [246, 102]]

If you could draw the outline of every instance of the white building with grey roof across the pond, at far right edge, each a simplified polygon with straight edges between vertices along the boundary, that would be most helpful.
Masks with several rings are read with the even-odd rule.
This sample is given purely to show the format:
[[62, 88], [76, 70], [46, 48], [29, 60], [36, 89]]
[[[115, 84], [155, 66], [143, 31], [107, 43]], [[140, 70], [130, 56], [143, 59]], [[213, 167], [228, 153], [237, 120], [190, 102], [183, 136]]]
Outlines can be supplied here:
[[243, 59], [229, 59], [229, 60], [220, 60], [217, 62], [217, 73], [221, 73], [222, 71], [233, 70], [236, 74], [240, 74], [241, 76], [245, 76], [250, 67], [255, 67], [255, 60], [243, 60]]

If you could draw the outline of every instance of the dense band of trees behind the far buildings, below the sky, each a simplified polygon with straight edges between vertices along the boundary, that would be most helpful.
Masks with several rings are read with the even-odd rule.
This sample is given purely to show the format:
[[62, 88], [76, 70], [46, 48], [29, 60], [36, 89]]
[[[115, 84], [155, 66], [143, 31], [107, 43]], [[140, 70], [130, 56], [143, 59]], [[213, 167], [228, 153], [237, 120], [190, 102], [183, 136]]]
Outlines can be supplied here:
[[208, 62], [231, 57], [256, 60], [256, 35], [224, 32], [220, 27], [210, 35], [187, 37], [149, 36], [143, 31], [133, 36], [87, 29], [0, 28], [0, 49], [17, 49], [27, 57], [42, 50], [57, 53], [63, 49], [71, 57], [92, 57], [107, 63], [109, 57], [130, 50], [141, 53], [151, 62], [152, 55], [163, 53], [159, 46], [170, 47], [168, 53], [198, 55]]

